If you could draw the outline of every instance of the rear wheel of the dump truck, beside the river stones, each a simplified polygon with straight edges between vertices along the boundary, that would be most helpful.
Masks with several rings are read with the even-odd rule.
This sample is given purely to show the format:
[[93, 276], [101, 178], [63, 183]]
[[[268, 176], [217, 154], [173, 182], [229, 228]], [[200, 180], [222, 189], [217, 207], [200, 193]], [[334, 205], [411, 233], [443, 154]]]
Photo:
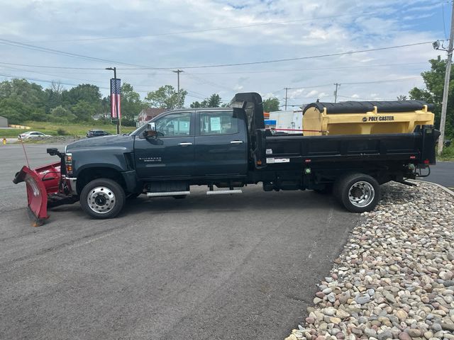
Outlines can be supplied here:
[[380, 184], [366, 174], [348, 174], [338, 179], [333, 194], [351, 212], [371, 211], [380, 200]]

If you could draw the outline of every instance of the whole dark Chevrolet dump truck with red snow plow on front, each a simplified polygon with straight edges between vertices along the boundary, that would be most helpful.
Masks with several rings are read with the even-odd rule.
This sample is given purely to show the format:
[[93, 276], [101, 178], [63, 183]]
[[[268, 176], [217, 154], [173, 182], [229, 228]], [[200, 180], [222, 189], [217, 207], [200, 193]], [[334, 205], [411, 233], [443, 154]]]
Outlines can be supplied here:
[[[402, 103], [392, 103], [387, 108], [398, 112]], [[421, 102], [405, 105], [421, 108]], [[345, 111], [338, 103], [331, 113], [336, 106]], [[206, 186], [207, 195], [233, 194], [257, 183], [264, 191], [332, 192], [346, 209], [365, 212], [377, 205], [380, 184], [430, 172], [438, 135], [433, 125], [377, 135], [273, 133], [265, 130], [260, 95], [241, 93], [228, 108], [168, 111], [128, 135], [79, 140], [65, 152], [48, 149], [61, 158], [53, 171], [24, 167], [14, 181], [27, 182], [37, 220], [47, 217], [43, 209], [77, 200], [88, 215], [104, 219], [140, 194], [185, 198], [191, 186]], [[40, 202], [33, 202], [29, 184], [38, 187]]]

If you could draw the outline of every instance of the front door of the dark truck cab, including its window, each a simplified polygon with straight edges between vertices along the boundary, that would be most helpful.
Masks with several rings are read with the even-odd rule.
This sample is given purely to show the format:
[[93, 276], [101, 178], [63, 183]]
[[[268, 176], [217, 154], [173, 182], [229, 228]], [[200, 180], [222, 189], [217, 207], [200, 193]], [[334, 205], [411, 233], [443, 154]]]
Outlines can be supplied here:
[[138, 178], [191, 177], [194, 169], [194, 111], [167, 113], [153, 121], [157, 137], [135, 137]]

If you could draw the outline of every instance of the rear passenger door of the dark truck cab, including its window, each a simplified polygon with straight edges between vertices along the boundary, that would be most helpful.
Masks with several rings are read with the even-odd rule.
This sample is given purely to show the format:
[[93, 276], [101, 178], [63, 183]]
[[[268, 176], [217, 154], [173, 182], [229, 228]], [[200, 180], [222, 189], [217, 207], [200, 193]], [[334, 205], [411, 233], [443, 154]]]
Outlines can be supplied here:
[[236, 110], [196, 113], [195, 176], [235, 177], [248, 171], [245, 116]]

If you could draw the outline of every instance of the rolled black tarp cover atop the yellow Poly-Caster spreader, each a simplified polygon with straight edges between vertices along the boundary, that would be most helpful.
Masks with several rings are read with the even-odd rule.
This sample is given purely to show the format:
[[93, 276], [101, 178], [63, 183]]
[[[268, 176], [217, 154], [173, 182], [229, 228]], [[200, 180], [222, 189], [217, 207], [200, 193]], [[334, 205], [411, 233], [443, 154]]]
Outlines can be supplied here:
[[409, 112], [422, 110], [428, 106], [428, 111], [433, 110], [433, 104], [425, 101], [343, 101], [341, 103], [311, 103], [304, 108], [303, 114], [309, 108], [316, 108], [320, 112], [326, 108], [326, 113], [366, 113], [374, 110], [377, 106], [378, 112]]

